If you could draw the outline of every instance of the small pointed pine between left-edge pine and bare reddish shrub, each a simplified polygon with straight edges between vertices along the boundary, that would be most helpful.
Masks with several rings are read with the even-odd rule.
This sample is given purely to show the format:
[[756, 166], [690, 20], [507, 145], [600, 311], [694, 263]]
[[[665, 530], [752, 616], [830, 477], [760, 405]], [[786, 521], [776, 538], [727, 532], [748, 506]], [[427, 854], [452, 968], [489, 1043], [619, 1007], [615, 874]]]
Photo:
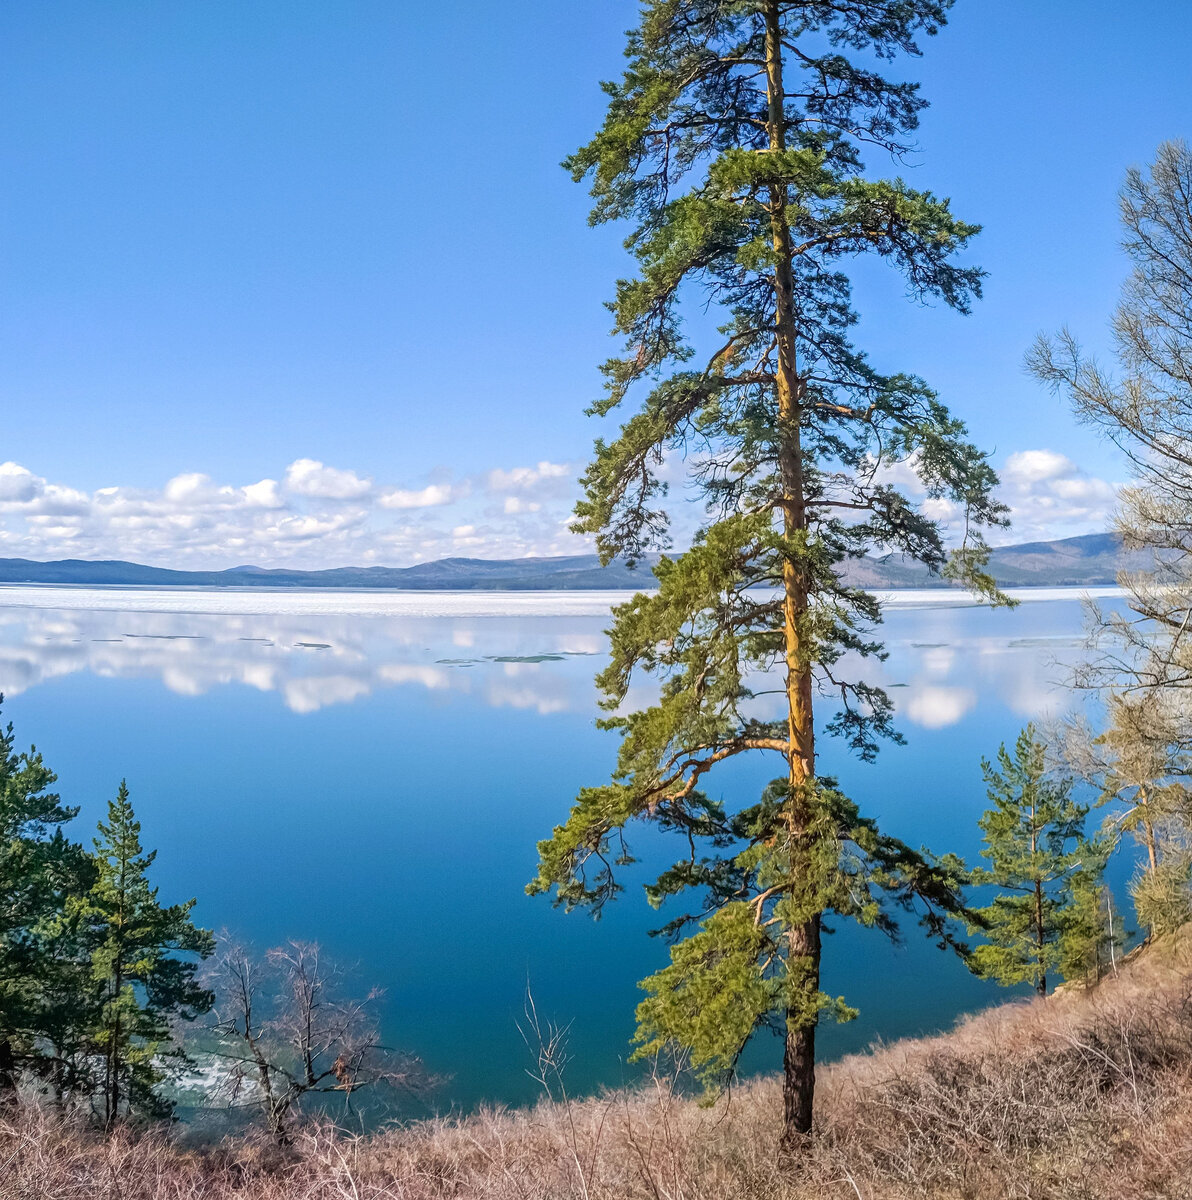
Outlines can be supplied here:
[[148, 871], [157, 857], [140, 845], [140, 823], [121, 781], [95, 840], [97, 878], [88, 904], [91, 974], [98, 989], [94, 1044], [103, 1060], [98, 1093], [110, 1127], [138, 1112], [162, 1116], [170, 1105], [157, 1093], [167, 1063], [185, 1064], [172, 1036], [173, 1018], [193, 1020], [212, 996], [196, 982], [196, 956], [215, 948], [208, 930], [191, 922], [193, 900], [163, 906]]

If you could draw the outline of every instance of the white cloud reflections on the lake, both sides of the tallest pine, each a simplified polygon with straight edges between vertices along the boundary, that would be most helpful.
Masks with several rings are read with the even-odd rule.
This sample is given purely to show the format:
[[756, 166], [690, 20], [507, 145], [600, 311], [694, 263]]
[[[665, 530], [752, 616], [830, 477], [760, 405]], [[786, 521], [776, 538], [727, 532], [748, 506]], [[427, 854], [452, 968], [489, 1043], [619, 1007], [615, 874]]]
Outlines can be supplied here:
[[[1078, 628], [1074, 605], [1073, 612]], [[1005, 636], [974, 636], [974, 616], [986, 622], [983, 629], [1002, 620]], [[599, 661], [593, 656], [605, 652], [606, 624], [606, 616], [588, 613], [383, 617], [0, 606], [0, 692], [18, 695], [89, 672], [156, 678], [179, 696], [240, 685], [276, 694], [299, 714], [394, 688], [436, 697], [462, 694], [543, 715], [592, 714]], [[970, 610], [966, 625], [950, 626], [941, 610], [896, 610], [883, 629], [889, 659], [869, 664], [867, 672], [891, 689], [900, 720], [928, 730], [956, 725], [987, 697], [1023, 719], [1050, 716], [1071, 703], [1061, 683], [1082, 653], [1076, 632], [1023, 636], [1020, 620], [999, 614]], [[543, 655], [551, 658], [526, 661]], [[633, 702], [647, 695], [635, 689]]]

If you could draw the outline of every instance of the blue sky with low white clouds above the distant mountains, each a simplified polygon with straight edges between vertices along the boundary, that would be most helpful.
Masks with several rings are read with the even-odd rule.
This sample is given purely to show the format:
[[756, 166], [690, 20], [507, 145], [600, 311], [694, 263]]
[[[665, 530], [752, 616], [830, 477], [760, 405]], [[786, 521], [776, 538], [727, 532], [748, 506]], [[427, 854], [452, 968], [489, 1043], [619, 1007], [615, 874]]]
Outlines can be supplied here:
[[[558, 161], [624, 0], [0, 7], [0, 556], [408, 563], [565, 532], [621, 230]], [[1102, 528], [1112, 450], [1026, 378], [1092, 348], [1115, 192], [1192, 137], [1182, 0], [959, 0], [899, 64], [903, 173], [986, 229], [962, 318], [865, 271], [863, 341], [993, 451], [1014, 540]], [[886, 170], [873, 162], [874, 172]]]

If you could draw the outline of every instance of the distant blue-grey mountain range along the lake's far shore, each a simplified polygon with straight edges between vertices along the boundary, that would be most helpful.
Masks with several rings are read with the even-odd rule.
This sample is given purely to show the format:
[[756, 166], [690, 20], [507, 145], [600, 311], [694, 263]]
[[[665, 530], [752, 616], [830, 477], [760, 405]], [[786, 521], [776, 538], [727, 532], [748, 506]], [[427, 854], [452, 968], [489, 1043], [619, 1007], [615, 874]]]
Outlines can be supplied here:
[[[1112, 584], [1119, 570], [1134, 565], [1116, 534], [1098, 533], [1058, 541], [1000, 546], [990, 562], [1004, 587], [1091, 587]], [[657, 556], [652, 562], [657, 562]], [[118, 560], [64, 558], [36, 563], [0, 558], [0, 583], [56, 583], [88, 587], [180, 588], [394, 588], [417, 592], [529, 592], [591, 588], [648, 588], [652, 562], [630, 570], [624, 563], [601, 566], [595, 554], [561, 558], [441, 558], [418, 566], [337, 566], [324, 571], [233, 566], [226, 571], [173, 571]], [[922, 565], [902, 556], [859, 558], [846, 564], [845, 578], [871, 588], [947, 587]]]

